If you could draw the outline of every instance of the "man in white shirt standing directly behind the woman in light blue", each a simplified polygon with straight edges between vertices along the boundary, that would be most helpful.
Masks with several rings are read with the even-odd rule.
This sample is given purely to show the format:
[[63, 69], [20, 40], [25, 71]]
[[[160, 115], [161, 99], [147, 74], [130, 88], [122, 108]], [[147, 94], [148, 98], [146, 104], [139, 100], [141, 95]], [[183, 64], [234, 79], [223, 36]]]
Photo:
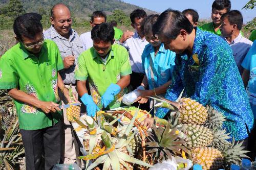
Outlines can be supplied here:
[[135, 32], [127, 30], [123, 33], [119, 40], [119, 44], [123, 45], [129, 52], [130, 62], [132, 66], [131, 85], [133, 90], [136, 89], [143, 80], [144, 70], [142, 68], [141, 55], [148, 42], [141, 30], [141, 21], [146, 17], [146, 12], [142, 9], [136, 9], [130, 14], [132, 21], [131, 26]]

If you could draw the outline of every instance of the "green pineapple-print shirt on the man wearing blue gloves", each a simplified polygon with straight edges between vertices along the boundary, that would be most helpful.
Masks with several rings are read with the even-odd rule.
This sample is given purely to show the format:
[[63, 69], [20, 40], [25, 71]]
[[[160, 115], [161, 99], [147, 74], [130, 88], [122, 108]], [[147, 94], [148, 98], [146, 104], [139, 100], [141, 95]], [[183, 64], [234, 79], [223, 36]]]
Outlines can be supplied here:
[[[119, 44], [114, 44], [105, 64], [94, 50], [94, 47], [83, 52], [78, 59], [75, 77], [76, 80], [89, 81], [93, 101], [101, 108], [101, 96], [109, 85], [117, 83], [121, 76], [130, 75], [131, 73], [132, 69], [127, 50]], [[121, 106], [122, 96], [126, 92], [127, 89], [125, 88], [115, 96], [115, 100], [109, 105], [110, 109]]]

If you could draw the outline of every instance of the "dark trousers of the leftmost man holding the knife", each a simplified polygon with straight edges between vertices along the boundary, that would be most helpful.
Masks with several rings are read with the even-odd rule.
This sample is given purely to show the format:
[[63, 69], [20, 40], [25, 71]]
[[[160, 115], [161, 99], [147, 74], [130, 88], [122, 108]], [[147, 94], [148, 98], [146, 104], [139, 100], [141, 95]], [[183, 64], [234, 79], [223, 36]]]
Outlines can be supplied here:
[[61, 121], [52, 127], [39, 130], [20, 129], [25, 148], [26, 170], [48, 170], [59, 163], [61, 129]]

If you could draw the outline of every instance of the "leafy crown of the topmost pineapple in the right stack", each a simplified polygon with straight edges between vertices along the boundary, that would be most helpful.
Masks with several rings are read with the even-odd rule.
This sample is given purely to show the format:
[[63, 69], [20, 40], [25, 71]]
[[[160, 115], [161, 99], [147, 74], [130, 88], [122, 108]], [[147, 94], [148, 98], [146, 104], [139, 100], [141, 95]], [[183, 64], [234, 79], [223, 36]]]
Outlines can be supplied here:
[[211, 106], [206, 106], [208, 111], [208, 118], [206, 119], [204, 126], [209, 129], [222, 129], [223, 122], [226, 120], [225, 116], [212, 108]]

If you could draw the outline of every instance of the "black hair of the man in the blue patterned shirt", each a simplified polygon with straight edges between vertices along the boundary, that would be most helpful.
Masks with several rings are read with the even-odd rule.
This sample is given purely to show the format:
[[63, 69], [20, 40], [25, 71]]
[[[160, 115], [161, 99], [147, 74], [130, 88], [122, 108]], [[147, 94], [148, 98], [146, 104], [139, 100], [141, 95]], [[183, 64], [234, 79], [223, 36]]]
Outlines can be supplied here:
[[168, 39], [176, 39], [182, 29], [190, 34], [193, 31], [193, 25], [182, 12], [167, 9], [160, 14], [157, 22], [154, 24], [153, 35], [158, 34]]

